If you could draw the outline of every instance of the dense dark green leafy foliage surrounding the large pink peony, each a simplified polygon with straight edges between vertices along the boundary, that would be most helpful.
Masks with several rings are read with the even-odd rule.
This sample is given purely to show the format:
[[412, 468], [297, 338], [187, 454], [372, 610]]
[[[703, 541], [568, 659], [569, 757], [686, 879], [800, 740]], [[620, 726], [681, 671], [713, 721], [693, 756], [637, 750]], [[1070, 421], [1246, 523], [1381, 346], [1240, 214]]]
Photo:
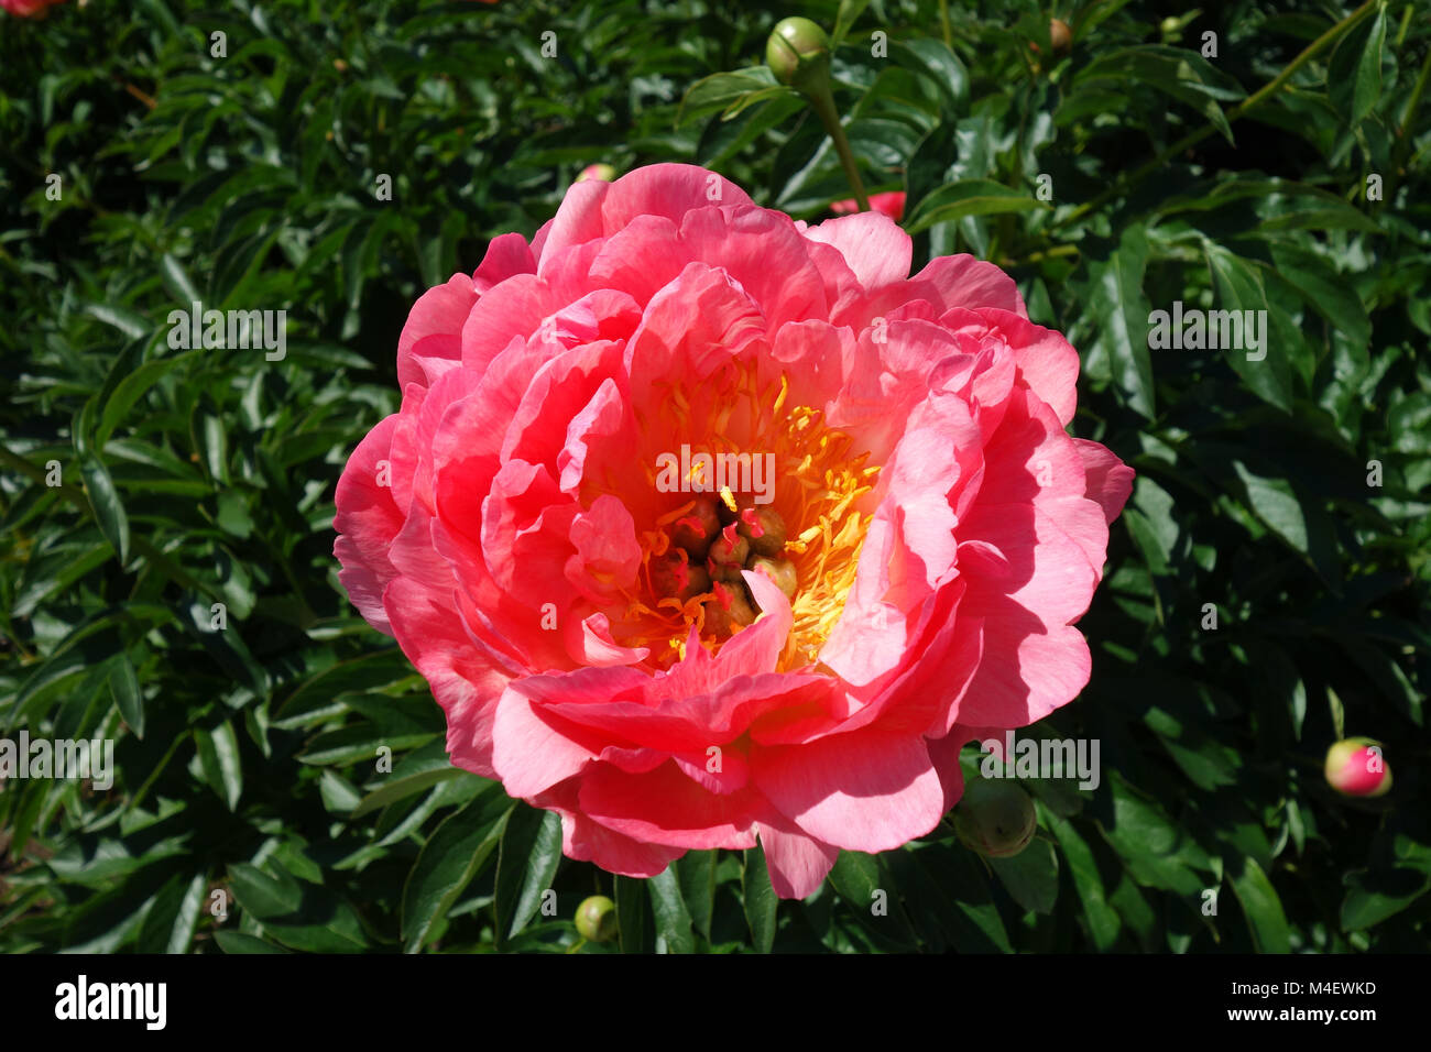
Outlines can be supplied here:
[[[1301, 63], [1351, 7], [1089, 3], [1055, 11], [1058, 57], [1030, 3], [218, 7], [0, 17], [0, 737], [116, 740], [109, 790], [0, 789], [0, 950], [1428, 948], [1424, 4], [1367, 4]], [[703, 163], [810, 220], [851, 196], [758, 66], [787, 14], [837, 39], [916, 268], [1009, 269], [1082, 354], [1075, 434], [1138, 471], [1092, 683], [1026, 731], [1098, 739], [1099, 789], [1026, 783], [1013, 859], [946, 822], [806, 903], [758, 850], [645, 883], [561, 859], [554, 819], [448, 764], [331, 525], [412, 302], [585, 165]], [[192, 301], [285, 309], [286, 358], [172, 348]], [[1266, 358], [1149, 349], [1175, 301], [1266, 311]], [[1390, 796], [1325, 784], [1344, 733], [1385, 743]], [[578, 943], [594, 893], [621, 935]]]

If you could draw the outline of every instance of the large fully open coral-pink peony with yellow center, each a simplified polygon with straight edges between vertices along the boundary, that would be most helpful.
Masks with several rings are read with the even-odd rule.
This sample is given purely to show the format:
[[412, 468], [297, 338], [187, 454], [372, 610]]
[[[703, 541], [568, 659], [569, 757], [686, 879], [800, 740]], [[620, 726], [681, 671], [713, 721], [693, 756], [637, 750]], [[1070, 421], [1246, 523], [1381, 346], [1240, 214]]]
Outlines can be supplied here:
[[654, 165], [414, 306], [402, 409], [338, 484], [341, 580], [452, 761], [560, 813], [570, 857], [758, 840], [803, 897], [1088, 681], [1072, 624], [1133, 472], [1065, 432], [1078, 354], [1013, 281], [910, 252], [877, 212], [806, 226]]

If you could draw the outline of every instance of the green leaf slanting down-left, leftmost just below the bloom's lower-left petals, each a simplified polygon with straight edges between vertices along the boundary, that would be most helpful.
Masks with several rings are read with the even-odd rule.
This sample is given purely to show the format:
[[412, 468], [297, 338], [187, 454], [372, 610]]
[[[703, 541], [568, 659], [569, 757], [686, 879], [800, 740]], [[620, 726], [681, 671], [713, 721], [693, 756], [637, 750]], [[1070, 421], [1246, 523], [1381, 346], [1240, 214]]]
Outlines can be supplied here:
[[402, 945], [416, 953], [501, 840], [512, 800], [491, 784], [432, 830], [402, 887]]

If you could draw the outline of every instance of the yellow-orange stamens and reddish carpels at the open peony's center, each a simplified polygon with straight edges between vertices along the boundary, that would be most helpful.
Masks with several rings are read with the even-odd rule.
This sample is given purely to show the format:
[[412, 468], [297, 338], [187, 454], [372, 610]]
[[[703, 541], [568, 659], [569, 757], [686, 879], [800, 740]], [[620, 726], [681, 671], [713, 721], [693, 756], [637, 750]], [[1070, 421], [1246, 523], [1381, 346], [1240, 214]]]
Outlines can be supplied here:
[[820, 409], [791, 405], [786, 376], [761, 386], [753, 364], [724, 366], [694, 398], [674, 385], [665, 394], [661, 432], [703, 445], [673, 452], [660, 471], [647, 465], [670, 510], [638, 535], [640, 584], [615, 638], [648, 647], [665, 668], [695, 625], [714, 653], [761, 613], [741, 577], [750, 570], [790, 600], [778, 667], [816, 664], [854, 584], [870, 522], [860, 498], [879, 467]]

